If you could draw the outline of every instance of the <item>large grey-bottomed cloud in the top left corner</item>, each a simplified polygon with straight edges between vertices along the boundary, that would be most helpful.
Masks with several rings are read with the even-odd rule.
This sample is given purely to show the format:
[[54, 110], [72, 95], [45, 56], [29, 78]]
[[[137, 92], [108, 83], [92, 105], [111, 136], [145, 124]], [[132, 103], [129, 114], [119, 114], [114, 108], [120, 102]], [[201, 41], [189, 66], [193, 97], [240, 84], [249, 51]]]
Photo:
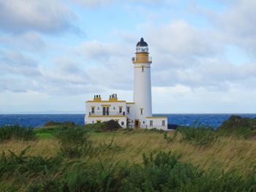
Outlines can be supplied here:
[[74, 28], [75, 14], [60, 1], [0, 0], [0, 30], [50, 34]]

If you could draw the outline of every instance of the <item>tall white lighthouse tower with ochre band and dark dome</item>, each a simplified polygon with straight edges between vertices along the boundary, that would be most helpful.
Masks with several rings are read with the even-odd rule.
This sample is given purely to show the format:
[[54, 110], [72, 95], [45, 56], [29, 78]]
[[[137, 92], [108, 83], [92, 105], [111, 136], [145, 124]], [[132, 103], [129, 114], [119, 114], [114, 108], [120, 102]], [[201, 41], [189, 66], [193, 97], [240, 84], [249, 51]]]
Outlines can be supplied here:
[[135, 127], [146, 128], [146, 117], [152, 116], [151, 101], [151, 57], [148, 56], [148, 44], [141, 38], [136, 45], [134, 64]]

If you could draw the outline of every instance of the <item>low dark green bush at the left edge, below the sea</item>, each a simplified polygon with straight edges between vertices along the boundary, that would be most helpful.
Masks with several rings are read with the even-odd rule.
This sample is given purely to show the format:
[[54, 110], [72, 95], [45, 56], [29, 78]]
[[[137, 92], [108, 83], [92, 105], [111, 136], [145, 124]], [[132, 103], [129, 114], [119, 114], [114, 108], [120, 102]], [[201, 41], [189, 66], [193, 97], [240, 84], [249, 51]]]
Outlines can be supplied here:
[[34, 140], [36, 139], [36, 134], [33, 128], [26, 126], [20, 127], [18, 125], [15, 126], [1, 126], [0, 127], [0, 142], [10, 139], [18, 139], [18, 140]]

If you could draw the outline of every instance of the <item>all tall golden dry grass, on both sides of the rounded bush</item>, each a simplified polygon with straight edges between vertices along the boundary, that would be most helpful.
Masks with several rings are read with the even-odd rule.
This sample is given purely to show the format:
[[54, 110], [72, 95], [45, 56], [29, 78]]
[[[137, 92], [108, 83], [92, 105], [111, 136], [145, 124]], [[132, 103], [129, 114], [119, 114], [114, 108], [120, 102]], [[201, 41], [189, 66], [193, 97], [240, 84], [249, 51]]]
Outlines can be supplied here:
[[[173, 132], [169, 132], [172, 136]], [[82, 161], [102, 161], [141, 163], [143, 153], [172, 151], [181, 153], [181, 161], [191, 162], [201, 169], [218, 169], [228, 171], [236, 169], [239, 174], [250, 174], [256, 166], [256, 142], [254, 139], [241, 139], [237, 137], [219, 137], [217, 142], [209, 146], [192, 145], [181, 142], [178, 137], [167, 143], [162, 133], [146, 130], [113, 131], [93, 133], [90, 136], [95, 145], [110, 142], [118, 146], [118, 150], [107, 153], [97, 153], [92, 157], [82, 157]], [[24, 148], [31, 146], [28, 155], [42, 155], [46, 158], [59, 153], [60, 145], [56, 139], [39, 138], [35, 141], [10, 140], [0, 143], [0, 152], [11, 150], [20, 153]]]

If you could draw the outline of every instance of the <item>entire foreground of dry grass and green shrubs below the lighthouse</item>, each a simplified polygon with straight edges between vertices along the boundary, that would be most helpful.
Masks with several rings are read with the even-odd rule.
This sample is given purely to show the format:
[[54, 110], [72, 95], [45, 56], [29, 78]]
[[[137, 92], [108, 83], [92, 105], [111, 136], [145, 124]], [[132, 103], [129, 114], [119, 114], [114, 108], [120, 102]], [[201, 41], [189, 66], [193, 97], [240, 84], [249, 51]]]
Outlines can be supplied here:
[[[34, 130], [37, 139], [26, 141], [12, 137], [12, 139], [0, 142], [0, 149], [5, 153], [7, 159], [10, 160], [15, 155], [19, 157], [20, 153], [30, 146], [26, 153], [21, 155], [21, 159], [25, 158], [23, 161], [29, 162], [29, 164], [32, 164], [31, 159], [37, 159], [39, 162], [34, 162], [35, 165], [40, 167], [43, 164], [45, 166], [44, 169], [38, 169], [39, 172], [24, 171], [11, 174], [11, 177], [7, 177], [7, 175], [0, 177], [0, 191], [7, 189], [13, 189], [13, 191], [17, 191], [17, 189], [21, 191], [48, 189], [50, 191], [50, 187], [56, 186], [60, 191], [64, 191], [64, 188], [67, 188], [67, 191], [83, 191], [89, 186], [90, 188], [86, 188], [87, 191], [102, 189], [108, 191], [106, 190], [108, 188], [120, 190], [121, 185], [125, 186], [122, 188], [123, 191], [136, 191], [135, 187], [143, 191], [152, 191], [153, 189], [164, 191], [168, 186], [170, 188], [170, 183], [167, 184], [167, 180], [173, 180], [176, 183], [176, 190], [179, 191], [187, 190], [183, 183], [184, 180], [189, 181], [186, 185], [194, 188], [194, 191], [198, 189], [196, 186], [200, 187], [201, 185], [201, 191], [224, 191], [225, 189], [226, 191], [234, 189], [241, 191], [243, 188], [249, 190], [249, 186], [252, 187], [250, 182], [254, 181], [256, 166], [254, 138], [235, 137], [233, 134], [222, 136], [216, 131], [210, 133], [203, 129], [198, 129], [199, 131], [180, 129], [176, 132], [145, 129], [102, 131], [100, 127], [102, 124], [97, 124], [97, 127], [90, 125], [87, 128], [61, 128], [61, 126], [37, 128]], [[173, 137], [174, 135], [175, 137]], [[211, 140], [211, 137], [214, 137], [214, 142], [206, 142], [208, 138]], [[203, 139], [200, 140], [201, 138]], [[71, 150], [74, 149], [73, 147], [83, 149], [88, 144], [86, 139], [91, 143], [90, 153], [88, 151], [85, 153], [83, 150], [78, 150], [78, 155], [61, 153], [63, 145], [71, 146]], [[59, 164], [58, 169], [53, 170], [48, 161], [59, 156], [63, 158], [62, 164]], [[159, 167], [159, 163], [157, 163], [157, 161], [164, 160], [170, 161], [167, 163], [168, 169]], [[174, 161], [179, 168], [173, 169], [173, 166], [170, 166], [174, 164], [171, 163]], [[2, 164], [2, 167], [4, 166], [6, 164]], [[10, 172], [13, 167], [15, 166], [12, 166]], [[177, 181], [172, 176], [173, 174], [169, 174], [174, 171], [177, 174]], [[145, 174], [141, 174], [141, 172]], [[161, 172], [168, 172], [168, 177]], [[97, 177], [93, 173], [97, 173]], [[178, 173], [184, 173], [185, 176]], [[152, 180], [149, 175], [152, 175]], [[196, 180], [192, 180], [192, 175]], [[158, 177], [163, 178], [162, 183], [156, 180]], [[35, 180], [39, 182], [37, 183]], [[85, 184], [83, 182], [85, 180], [89, 183]], [[203, 180], [203, 183], [200, 183], [200, 180]], [[153, 183], [157, 184], [153, 185]], [[181, 188], [181, 183], [184, 188]], [[214, 184], [216, 188], [214, 186], [214, 188], [210, 188], [209, 183], [217, 183], [219, 188], [217, 188], [217, 184]], [[238, 188], [236, 183], [243, 188]], [[234, 188], [230, 188], [231, 185]]]

